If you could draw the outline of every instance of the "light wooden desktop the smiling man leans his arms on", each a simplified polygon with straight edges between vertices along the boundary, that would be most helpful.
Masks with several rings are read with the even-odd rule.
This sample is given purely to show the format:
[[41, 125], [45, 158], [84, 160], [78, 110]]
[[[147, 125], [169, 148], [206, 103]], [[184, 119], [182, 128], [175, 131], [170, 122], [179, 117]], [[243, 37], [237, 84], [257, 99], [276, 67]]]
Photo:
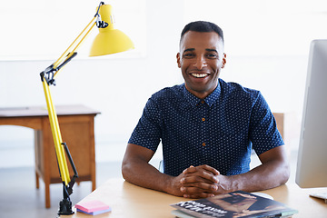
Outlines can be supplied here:
[[[301, 189], [296, 184], [285, 184], [280, 187], [263, 191], [272, 195], [273, 199], [297, 209], [299, 213], [293, 217], [326, 217], [327, 203], [309, 197], [308, 193], [322, 193], [326, 189]], [[74, 193], [73, 193], [74, 194]], [[174, 217], [171, 214], [172, 203], [188, 199], [175, 197], [167, 193], [127, 183], [123, 179], [111, 179], [86, 196], [81, 202], [100, 200], [112, 207], [112, 212], [96, 215], [97, 218], [114, 217]], [[63, 218], [91, 217], [84, 213], [74, 213]]]

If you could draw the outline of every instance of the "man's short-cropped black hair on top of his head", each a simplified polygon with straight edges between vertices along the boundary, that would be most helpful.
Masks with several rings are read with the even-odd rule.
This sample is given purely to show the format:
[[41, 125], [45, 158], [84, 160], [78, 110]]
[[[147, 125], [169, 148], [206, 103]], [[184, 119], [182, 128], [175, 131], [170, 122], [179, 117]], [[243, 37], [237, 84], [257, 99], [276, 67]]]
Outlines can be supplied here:
[[204, 33], [208, 33], [208, 32], [216, 32], [221, 39], [223, 40], [223, 30], [221, 27], [219, 27], [218, 25], [215, 25], [211, 22], [207, 22], [207, 21], [194, 21], [189, 23], [188, 25], [185, 25], [181, 34], [181, 40], [183, 38], [183, 35], [187, 32], [187, 31], [195, 31], [195, 32], [204, 32]]

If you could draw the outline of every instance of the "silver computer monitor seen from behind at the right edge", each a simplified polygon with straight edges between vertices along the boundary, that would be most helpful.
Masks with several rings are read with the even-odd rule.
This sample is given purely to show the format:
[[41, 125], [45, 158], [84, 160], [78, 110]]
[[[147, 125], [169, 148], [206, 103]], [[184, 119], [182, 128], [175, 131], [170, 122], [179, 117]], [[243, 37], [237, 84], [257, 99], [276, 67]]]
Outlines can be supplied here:
[[295, 182], [327, 187], [327, 40], [310, 47]]

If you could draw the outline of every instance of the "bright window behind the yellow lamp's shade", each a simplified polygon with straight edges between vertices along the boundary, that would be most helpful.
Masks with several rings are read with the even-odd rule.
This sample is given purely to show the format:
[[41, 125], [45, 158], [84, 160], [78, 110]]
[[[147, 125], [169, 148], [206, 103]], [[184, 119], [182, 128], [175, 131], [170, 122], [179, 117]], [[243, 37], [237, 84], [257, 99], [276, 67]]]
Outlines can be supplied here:
[[[56, 60], [92, 20], [99, 3], [88, 0], [2, 1], [0, 60]], [[135, 49], [124, 57], [144, 55], [145, 0], [115, 1], [110, 5], [116, 28], [129, 35], [135, 44]], [[97, 33], [94, 28], [78, 49], [76, 58], [88, 55]]]

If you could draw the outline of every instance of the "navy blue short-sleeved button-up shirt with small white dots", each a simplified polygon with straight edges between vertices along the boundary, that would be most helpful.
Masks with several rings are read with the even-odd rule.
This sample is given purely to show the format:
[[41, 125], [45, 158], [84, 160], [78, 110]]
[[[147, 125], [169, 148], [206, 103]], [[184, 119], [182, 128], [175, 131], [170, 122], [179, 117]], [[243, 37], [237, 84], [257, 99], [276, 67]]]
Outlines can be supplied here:
[[246, 173], [252, 148], [259, 155], [283, 144], [263, 95], [222, 79], [205, 99], [184, 84], [152, 95], [128, 143], [155, 152], [161, 141], [164, 173], [173, 176], [202, 164], [225, 175]]

